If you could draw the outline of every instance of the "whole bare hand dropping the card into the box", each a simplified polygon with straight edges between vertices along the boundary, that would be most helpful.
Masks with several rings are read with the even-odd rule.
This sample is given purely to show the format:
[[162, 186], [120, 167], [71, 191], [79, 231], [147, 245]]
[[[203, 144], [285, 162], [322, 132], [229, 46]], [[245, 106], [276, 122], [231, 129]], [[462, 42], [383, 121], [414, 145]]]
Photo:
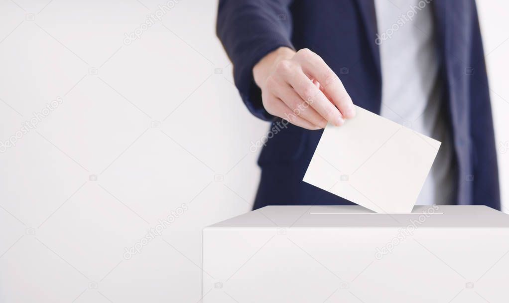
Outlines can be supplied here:
[[253, 68], [266, 111], [307, 129], [336, 126], [355, 116], [355, 107], [340, 78], [318, 54], [280, 47]]

